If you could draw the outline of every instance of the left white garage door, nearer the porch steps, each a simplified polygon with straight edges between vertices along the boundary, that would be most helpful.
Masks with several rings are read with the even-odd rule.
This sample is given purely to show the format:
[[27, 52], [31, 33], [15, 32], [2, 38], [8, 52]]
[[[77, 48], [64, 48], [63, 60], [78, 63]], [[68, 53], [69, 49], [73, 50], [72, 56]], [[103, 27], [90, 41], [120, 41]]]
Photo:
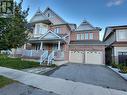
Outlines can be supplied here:
[[69, 51], [69, 62], [83, 63], [84, 53], [82, 51]]

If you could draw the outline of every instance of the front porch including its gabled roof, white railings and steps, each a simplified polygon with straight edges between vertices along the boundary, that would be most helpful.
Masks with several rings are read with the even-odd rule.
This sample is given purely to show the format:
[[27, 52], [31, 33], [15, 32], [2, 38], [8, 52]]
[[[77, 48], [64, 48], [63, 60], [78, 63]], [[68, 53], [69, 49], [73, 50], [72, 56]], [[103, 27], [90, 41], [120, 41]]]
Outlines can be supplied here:
[[16, 50], [14, 55], [20, 55], [23, 59], [35, 60], [42, 63], [67, 60], [67, 35], [58, 35], [49, 30], [38, 37], [31, 36], [22, 49]]

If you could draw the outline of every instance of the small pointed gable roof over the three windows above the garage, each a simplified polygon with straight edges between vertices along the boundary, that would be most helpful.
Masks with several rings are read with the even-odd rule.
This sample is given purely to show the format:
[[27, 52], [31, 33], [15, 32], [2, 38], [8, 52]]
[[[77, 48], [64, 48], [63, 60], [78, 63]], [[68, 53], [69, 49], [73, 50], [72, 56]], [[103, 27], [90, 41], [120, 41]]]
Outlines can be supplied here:
[[83, 20], [83, 22], [78, 26], [76, 31], [82, 31], [82, 30], [100, 30], [98, 27], [93, 27], [87, 20]]

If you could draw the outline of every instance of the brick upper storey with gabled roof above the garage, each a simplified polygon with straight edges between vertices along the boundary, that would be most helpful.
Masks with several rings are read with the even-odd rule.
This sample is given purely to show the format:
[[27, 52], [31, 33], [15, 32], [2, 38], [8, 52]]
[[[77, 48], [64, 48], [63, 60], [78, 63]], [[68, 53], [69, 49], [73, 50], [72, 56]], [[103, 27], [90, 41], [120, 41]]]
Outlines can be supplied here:
[[71, 40], [99, 40], [99, 31], [101, 29], [92, 26], [87, 20], [83, 22], [72, 32]]

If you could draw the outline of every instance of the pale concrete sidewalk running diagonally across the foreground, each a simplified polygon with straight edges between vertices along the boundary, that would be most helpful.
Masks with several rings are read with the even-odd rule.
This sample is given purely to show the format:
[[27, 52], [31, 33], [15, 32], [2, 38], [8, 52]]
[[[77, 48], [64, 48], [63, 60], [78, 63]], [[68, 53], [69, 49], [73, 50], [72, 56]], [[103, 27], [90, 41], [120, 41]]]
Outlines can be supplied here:
[[0, 67], [0, 75], [59, 95], [127, 95], [127, 92]]

